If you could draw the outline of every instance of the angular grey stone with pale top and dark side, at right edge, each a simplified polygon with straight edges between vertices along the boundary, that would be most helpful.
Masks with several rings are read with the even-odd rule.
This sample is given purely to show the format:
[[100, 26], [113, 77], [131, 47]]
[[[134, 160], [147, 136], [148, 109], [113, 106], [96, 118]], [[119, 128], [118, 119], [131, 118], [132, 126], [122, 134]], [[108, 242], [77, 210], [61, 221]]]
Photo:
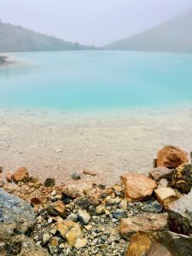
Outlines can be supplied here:
[[192, 190], [188, 195], [172, 201], [166, 209], [169, 213], [170, 230], [192, 235]]

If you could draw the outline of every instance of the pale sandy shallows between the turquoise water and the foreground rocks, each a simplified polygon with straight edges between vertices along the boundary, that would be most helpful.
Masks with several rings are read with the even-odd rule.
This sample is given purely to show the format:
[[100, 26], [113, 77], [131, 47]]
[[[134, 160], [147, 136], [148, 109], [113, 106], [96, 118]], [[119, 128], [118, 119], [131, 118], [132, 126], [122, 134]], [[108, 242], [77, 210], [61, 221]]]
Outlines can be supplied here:
[[[0, 166], [15, 172], [55, 177], [81, 187], [111, 184], [122, 172], [148, 173], [166, 144], [192, 150], [192, 108], [137, 109], [106, 113], [0, 110]], [[89, 169], [96, 177], [73, 181], [70, 173]]]

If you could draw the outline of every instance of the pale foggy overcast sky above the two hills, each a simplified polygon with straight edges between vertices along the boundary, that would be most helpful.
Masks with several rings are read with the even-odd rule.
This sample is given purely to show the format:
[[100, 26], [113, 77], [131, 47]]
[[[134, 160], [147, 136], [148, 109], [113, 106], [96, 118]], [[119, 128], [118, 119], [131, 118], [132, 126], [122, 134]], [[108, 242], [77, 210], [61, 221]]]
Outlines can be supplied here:
[[103, 45], [192, 8], [192, 0], [0, 0], [0, 19], [81, 44]]

